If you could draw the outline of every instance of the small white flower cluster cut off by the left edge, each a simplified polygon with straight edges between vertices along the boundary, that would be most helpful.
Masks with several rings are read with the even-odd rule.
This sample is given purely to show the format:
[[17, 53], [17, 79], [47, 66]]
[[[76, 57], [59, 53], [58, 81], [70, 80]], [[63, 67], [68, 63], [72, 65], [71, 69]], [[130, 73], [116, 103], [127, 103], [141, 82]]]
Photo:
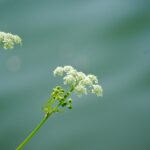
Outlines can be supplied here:
[[0, 32], [0, 47], [11, 49], [15, 44], [21, 44], [21, 38], [11, 33]]

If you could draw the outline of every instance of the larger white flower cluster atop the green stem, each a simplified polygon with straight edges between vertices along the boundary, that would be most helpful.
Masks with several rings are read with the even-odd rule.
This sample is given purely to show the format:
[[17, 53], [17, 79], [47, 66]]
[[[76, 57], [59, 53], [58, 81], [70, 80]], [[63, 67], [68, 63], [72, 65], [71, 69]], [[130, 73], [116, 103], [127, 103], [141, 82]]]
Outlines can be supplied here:
[[102, 96], [103, 89], [98, 85], [98, 79], [95, 75], [85, 75], [72, 66], [57, 67], [53, 73], [54, 76], [64, 75], [64, 84], [71, 86], [78, 95], [93, 93]]

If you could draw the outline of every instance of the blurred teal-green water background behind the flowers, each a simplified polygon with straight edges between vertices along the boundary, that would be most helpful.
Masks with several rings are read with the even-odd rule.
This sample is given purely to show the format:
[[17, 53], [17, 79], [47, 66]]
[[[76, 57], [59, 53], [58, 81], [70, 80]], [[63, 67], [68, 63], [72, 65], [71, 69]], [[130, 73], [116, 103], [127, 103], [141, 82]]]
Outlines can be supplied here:
[[0, 30], [23, 39], [0, 49], [0, 150], [42, 119], [60, 65], [96, 74], [104, 96], [74, 96], [25, 150], [150, 149], [149, 0], [0, 0]]

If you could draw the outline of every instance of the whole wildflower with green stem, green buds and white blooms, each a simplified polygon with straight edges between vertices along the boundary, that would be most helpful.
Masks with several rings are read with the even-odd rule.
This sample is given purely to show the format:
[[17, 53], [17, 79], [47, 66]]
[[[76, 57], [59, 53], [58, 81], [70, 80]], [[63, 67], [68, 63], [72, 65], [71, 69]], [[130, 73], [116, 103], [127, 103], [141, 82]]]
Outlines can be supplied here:
[[53, 88], [47, 103], [43, 107], [45, 113], [43, 120], [16, 150], [21, 150], [52, 114], [62, 112], [65, 108], [72, 109], [72, 93], [76, 93], [78, 96], [87, 94], [102, 96], [103, 94], [103, 89], [98, 85], [98, 79], [95, 75], [78, 72], [72, 66], [57, 67], [53, 73], [54, 76], [63, 77], [63, 83], [66, 86], [64, 86], [65, 88], [62, 86]]

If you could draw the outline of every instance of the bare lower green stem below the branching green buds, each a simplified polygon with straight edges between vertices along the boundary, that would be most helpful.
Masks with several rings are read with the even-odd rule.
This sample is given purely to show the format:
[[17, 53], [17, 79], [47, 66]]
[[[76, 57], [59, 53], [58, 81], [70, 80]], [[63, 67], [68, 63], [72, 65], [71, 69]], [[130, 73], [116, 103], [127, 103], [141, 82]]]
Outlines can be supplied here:
[[[52, 112], [53, 113], [53, 112]], [[52, 114], [47, 114], [44, 116], [42, 121], [36, 126], [36, 128], [29, 134], [29, 136], [16, 148], [16, 150], [22, 150], [23, 147], [30, 141], [30, 139], [37, 133], [37, 131], [41, 128], [41, 126], [45, 123], [45, 121], [49, 118], [49, 116]]]

